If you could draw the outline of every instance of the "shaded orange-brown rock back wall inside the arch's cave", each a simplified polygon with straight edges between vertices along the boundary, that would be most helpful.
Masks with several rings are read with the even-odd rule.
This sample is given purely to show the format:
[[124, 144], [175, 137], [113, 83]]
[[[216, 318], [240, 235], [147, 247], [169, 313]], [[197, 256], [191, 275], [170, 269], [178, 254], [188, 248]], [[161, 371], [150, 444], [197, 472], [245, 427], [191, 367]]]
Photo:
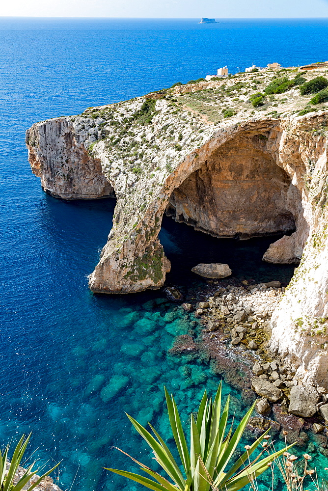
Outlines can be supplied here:
[[225, 142], [173, 191], [167, 214], [216, 237], [247, 239], [294, 230], [288, 197], [297, 193], [270, 155], [267, 140], [245, 132]]

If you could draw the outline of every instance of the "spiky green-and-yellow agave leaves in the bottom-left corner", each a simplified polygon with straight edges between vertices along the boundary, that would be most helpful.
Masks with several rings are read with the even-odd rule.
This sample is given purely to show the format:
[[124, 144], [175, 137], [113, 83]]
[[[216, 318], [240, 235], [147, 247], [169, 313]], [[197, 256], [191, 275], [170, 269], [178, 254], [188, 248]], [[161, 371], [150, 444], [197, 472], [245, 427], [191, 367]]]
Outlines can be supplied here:
[[[24, 488], [24, 486], [28, 484], [28, 481], [31, 479], [31, 477], [33, 477], [35, 474], [37, 474], [40, 471], [40, 468], [38, 468], [32, 472], [32, 467], [35, 464], [35, 462], [33, 462], [27, 467], [23, 476], [15, 484], [16, 481], [15, 475], [18, 466], [21, 463], [21, 460], [24, 456], [30, 436], [31, 434], [29, 434], [27, 437], [25, 437], [25, 435], [22, 436], [22, 438], [19, 440], [19, 442], [16, 445], [11, 461], [8, 461], [9, 444], [6, 446], [3, 453], [0, 450], [0, 491], [21, 491]], [[41, 483], [41, 481], [45, 477], [49, 476], [49, 474], [53, 472], [53, 470], [58, 465], [59, 463], [56, 464], [52, 469], [42, 474], [41, 477], [38, 477], [38, 479], [35, 482], [30, 484], [25, 489], [25, 491], [31, 491], [36, 486], [38, 486]]]

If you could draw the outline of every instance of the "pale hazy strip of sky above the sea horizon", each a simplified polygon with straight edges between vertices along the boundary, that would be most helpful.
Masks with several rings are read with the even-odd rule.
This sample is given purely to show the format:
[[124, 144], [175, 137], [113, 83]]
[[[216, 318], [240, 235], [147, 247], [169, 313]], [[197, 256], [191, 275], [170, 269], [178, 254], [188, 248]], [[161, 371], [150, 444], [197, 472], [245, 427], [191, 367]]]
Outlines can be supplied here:
[[328, 0], [2, 0], [0, 16], [328, 17]]

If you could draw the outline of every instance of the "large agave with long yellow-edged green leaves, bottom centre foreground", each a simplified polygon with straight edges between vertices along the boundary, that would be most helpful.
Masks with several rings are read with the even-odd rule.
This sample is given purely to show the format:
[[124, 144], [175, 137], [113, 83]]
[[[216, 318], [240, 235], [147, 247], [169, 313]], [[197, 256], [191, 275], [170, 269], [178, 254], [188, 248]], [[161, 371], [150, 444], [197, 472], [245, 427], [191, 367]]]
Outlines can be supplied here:
[[[207, 397], [206, 390], [202, 397], [197, 412], [196, 422], [191, 414], [190, 450], [187, 446], [186, 436], [182, 429], [181, 419], [173, 396], [169, 396], [165, 388], [165, 398], [168, 416], [172, 428], [173, 437], [180, 460], [176, 461], [165, 444], [163, 438], [157, 433], [150, 423], [154, 436], [143, 428], [134, 418], [128, 416], [137, 432], [146, 440], [153, 450], [156, 461], [163, 468], [169, 479], [155, 472], [147, 465], [141, 464], [128, 455], [134, 462], [140, 465], [141, 470], [156, 479], [156, 481], [133, 472], [118, 469], [109, 469], [115, 474], [127, 477], [132, 481], [142, 484], [154, 491], [238, 491], [249, 483], [253, 483], [257, 476], [268, 469], [271, 462], [279, 457], [286, 448], [269, 454], [264, 448], [252, 461], [251, 454], [268, 435], [267, 430], [252, 445], [246, 446], [246, 451], [237, 461], [227, 469], [227, 466], [243, 436], [246, 424], [254, 409], [255, 403], [248, 410], [235, 432], [233, 422], [227, 429], [229, 399], [221, 414], [221, 383], [214, 401]], [[290, 448], [290, 445], [287, 448]], [[120, 449], [118, 449], [120, 450]], [[122, 452], [122, 450], [121, 450]], [[265, 453], [265, 457], [263, 457]], [[182, 471], [183, 469], [183, 471]], [[173, 484], [174, 483], [174, 484]]]

